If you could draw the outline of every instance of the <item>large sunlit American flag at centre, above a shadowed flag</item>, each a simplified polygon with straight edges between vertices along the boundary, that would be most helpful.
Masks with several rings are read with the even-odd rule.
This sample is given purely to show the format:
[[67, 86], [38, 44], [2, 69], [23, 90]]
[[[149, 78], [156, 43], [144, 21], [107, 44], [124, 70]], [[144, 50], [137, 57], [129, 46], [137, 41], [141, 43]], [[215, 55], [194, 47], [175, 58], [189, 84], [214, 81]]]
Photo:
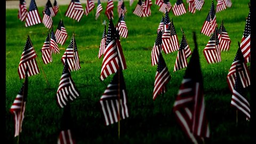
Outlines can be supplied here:
[[126, 69], [126, 62], [112, 19], [109, 20], [108, 35], [104, 57], [101, 66], [100, 79], [103, 81], [109, 75], [116, 73], [118, 69]]

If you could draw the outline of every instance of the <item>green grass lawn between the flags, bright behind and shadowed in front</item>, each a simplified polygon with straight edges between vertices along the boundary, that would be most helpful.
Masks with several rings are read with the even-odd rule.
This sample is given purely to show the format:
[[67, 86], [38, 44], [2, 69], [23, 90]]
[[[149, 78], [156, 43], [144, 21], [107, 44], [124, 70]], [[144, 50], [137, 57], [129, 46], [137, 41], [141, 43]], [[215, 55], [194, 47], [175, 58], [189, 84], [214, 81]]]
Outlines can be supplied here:
[[[173, 5], [174, 0], [170, 1]], [[183, 1], [186, 5], [185, 1]], [[224, 22], [231, 39], [230, 50], [222, 52], [220, 63], [209, 65], [203, 55], [203, 49], [210, 37], [200, 33], [206, 16], [209, 12], [211, 1], [205, 1], [203, 9], [195, 14], [187, 12], [173, 18], [173, 23], [179, 38], [182, 38], [180, 28], [183, 29], [190, 49], [194, 50], [193, 31], [196, 32], [201, 69], [204, 78], [204, 97], [206, 115], [210, 124], [211, 138], [207, 143], [243, 142], [250, 140], [249, 122], [238, 113], [236, 126], [236, 111], [230, 107], [231, 93], [228, 89], [226, 76], [238, 49], [237, 42], [241, 42], [246, 17], [249, 13], [249, 1], [233, 0], [231, 8], [217, 13], [217, 23]], [[7, 143], [16, 143], [13, 138], [13, 116], [9, 109], [20, 90], [24, 79], [19, 79], [18, 66], [27, 35], [37, 52], [37, 63], [40, 73], [31, 76], [29, 80], [28, 98], [26, 103], [25, 118], [20, 134], [20, 143], [57, 143], [60, 131], [60, 119], [63, 109], [55, 101], [63, 65], [62, 54], [65, 52], [71, 35], [74, 31], [78, 46], [81, 69], [71, 72], [71, 76], [81, 95], [71, 102], [71, 119], [73, 132], [77, 143], [188, 143], [188, 139], [181, 131], [180, 126], [172, 112], [173, 103], [177, 97], [180, 83], [185, 69], [173, 73], [177, 51], [163, 54], [167, 68], [171, 73], [171, 81], [167, 84], [167, 92], [158, 95], [153, 101], [154, 79], [157, 66], [151, 66], [151, 49], [156, 39], [156, 30], [162, 19], [155, 1], [151, 6], [151, 15], [139, 18], [132, 12], [137, 2], [129, 6], [125, 2], [127, 15], [126, 25], [129, 29], [128, 37], [121, 38], [121, 45], [125, 55], [127, 69], [123, 71], [127, 87], [130, 117], [121, 121], [121, 138], [117, 137], [117, 124], [105, 126], [100, 113], [98, 101], [111, 81], [110, 75], [105, 81], [100, 81], [102, 58], [98, 59], [99, 44], [107, 20], [103, 11], [98, 20], [95, 20], [95, 11], [83, 16], [80, 22], [65, 17], [66, 6], [60, 6], [60, 12], [53, 18], [54, 31], [60, 19], [63, 20], [68, 32], [68, 39], [60, 46], [60, 54], [53, 55], [52, 63], [43, 64], [41, 49], [48, 29], [43, 23], [32, 27], [25, 27], [25, 22], [17, 18], [18, 10], [6, 10], [6, 133]], [[217, 2], [214, 1], [216, 5]], [[96, 4], [97, 5], [97, 4]], [[117, 2], [114, 3], [114, 24], [117, 23]], [[83, 4], [83, 7], [85, 5]], [[43, 7], [38, 7], [43, 18]], [[108, 26], [108, 24], [107, 24]], [[188, 58], [189, 61], [190, 58]], [[43, 71], [49, 81], [47, 86]], [[250, 95], [248, 94], [250, 97]]]

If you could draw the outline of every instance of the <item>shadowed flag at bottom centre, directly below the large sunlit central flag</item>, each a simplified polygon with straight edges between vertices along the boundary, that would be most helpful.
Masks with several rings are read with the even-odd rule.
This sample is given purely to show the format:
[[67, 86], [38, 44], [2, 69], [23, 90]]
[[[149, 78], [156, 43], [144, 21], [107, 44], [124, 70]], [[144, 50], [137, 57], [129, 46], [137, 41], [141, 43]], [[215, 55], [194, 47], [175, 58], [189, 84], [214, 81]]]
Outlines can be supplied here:
[[126, 86], [122, 70], [118, 70], [100, 98], [105, 125], [117, 123], [129, 117]]

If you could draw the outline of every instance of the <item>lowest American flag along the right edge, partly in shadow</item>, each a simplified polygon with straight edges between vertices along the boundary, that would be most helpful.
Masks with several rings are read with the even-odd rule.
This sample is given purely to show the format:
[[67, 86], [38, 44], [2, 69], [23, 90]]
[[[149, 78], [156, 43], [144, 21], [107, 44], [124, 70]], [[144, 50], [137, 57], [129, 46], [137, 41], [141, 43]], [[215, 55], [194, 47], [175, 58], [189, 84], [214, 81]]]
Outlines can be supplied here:
[[236, 81], [232, 92], [231, 106], [237, 108], [239, 111], [244, 113], [246, 119], [250, 119], [250, 104], [247, 101], [245, 89], [242, 85], [241, 77], [238, 73], [238, 68], [236, 68], [236, 75], [237, 77], [235, 78]]

